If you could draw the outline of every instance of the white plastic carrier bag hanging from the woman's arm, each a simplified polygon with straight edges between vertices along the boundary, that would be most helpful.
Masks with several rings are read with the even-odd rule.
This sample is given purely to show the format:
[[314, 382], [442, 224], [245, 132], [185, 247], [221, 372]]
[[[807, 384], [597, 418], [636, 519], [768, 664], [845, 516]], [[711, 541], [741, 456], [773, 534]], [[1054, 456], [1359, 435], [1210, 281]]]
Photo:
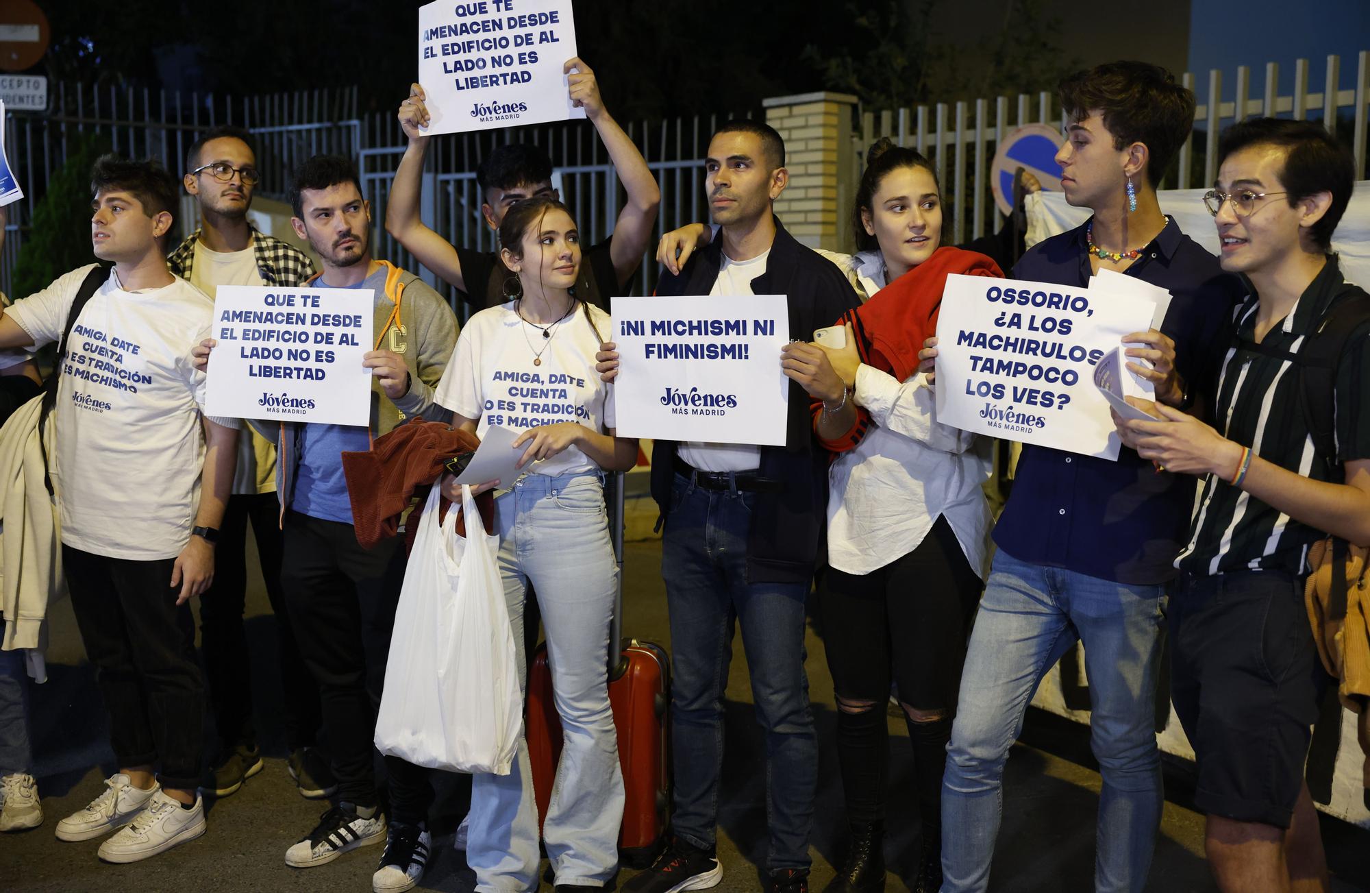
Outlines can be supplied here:
[[471, 488], [438, 525], [429, 493], [395, 611], [375, 746], [415, 766], [507, 775], [518, 752], [522, 696], [496, 556]]

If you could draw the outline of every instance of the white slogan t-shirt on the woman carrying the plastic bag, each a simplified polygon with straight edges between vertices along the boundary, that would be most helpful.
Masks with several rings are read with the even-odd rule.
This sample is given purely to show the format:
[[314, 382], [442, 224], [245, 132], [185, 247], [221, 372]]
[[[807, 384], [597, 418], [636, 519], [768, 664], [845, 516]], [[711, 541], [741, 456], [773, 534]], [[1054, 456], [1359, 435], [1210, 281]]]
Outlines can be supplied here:
[[[462, 326], [434, 400], [456, 415], [478, 418], [475, 436], [482, 440], [490, 425], [519, 431], [555, 422], [578, 422], [600, 433], [615, 427], [614, 388], [601, 382], [595, 371], [600, 336], [611, 331], [610, 316], [597, 307], [589, 311], [595, 327], [585, 319], [582, 304], [553, 325], [548, 340], [519, 319], [514, 301], [482, 310]], [[543, 351], [541, 363], [534, 366], [537, 351]], [[569, 446], [525, 470], [559, 475], [597, 471], [599, 466], [578, 448]], [[500, 482], [501, 486], [508, 483]]]

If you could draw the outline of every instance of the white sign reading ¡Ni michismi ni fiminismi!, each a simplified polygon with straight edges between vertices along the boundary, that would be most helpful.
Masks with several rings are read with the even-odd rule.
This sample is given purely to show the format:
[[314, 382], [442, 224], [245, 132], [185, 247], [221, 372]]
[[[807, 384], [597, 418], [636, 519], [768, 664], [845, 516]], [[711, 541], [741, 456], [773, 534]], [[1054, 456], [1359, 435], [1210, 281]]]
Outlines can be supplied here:
[[615, 297], [621, 437], [785, 445], [784, 294]]

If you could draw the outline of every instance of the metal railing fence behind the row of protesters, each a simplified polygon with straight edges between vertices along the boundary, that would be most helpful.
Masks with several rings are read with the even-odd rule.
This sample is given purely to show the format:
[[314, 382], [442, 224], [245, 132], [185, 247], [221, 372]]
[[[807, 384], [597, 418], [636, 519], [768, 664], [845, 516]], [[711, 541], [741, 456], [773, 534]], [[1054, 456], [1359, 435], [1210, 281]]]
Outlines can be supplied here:
[[[1307, 60], [1295, 63], [1293, 92], [1278, 95], [1280, 68], [1265, 67], [1263, 93], [1252, 96], [1251, 68], [1236, 71], [1234, 99], [1222, 101], [1223, 74], [1208, 73], [1204, 101], [1195, 112], [1195, 133], [1180, 151], [1175, 173], [1163, 184], [1188, 188], [1212, 182], [1217, 168], [1218, 133], [1226, 122], [1252, 114], [1288, 114], [1295, 118], [1321, 116], [1333, 131], [1349, 110], [1349, 137], [1356, 175], [1366, 177], [1367, 112], [1370, 112], [1370, 51], [1356, 62], [1355, 88], [1337, 89], [1341, 60], [1328, 56], [1321, 92], [1312, 92], [1314, 78]], [[1195, 86], [1195, 75], [1184, 84]], [[196, 137], [216, 125], [237, 125], [251, 130], [259, 142], [258, 166], [263, 179], [258, 192], [284, 199], [289, 173], [315, 152], [338, 152], [359, 160], [363, 192], [371, 201], [377, 255], [408, 266], [438, 286], [451, 300], [452, 289], [418, 267], [384, 229], [395, 168], [404, 153], [406, 140], [392, 111], [360, 114], [356, 88], [341, 90], [300, 90], [270, 96], [214, 96], [134, 88], [100, 88], [56, 84], [47, 114], [8, 112], [5, 151], [19, 170], [27, 201], [10, 205], [5, 244], [0, 257], [0, 289], [10, 290], [19, 247], [30, 223], [33, 204], [68, 158], [75, 134], [104, 134], [116, 152], [155, 156], [173, 170], [184, 166], [185, 152]], [[749, 114], [747, 114], [749, 116]], [[703, 163], [710, 134], [725, 115], [632, 122], [629, 136], [647, 159], [662, 189], [655, 234], [692, 221], [704, 221], [707, 204]], [[936, 103], [915, 108], [863, 111], [852, 140], [854, 166], [841, 175], [860, 175], [864, 148], [888, 136], [900, 145], [917, 147], [941, 171], [947, 204], [954, 208], [954, 238], [963, 242], [993, 229], [997, 212], [991, 197], [989, 166], [1004, 136], [1023, 123], [1060, 125], [1062, 114], [1049, 92], [1015, 99], [993, 97], [956, 103]], [[1347, 134], [1343, 134], [1344, 137]], [[493, 233], [481, 215], [475, 168], [496, 145], [525, 141], [541, 145], [552, 158], [553, 182], [571, 208], [586, 244], [612, 233], [622, 200], [622, 188], [604, 147], [585, 122], [560, 122], [507, 130], [455, 134], [433, 140], [422, 181], [421, 216], [453, 245], [489, 249]], [[1200, 160], [1201, 159], [1201, 160]], [[644, 252], [641, 270], [633, 279], [634, 293], [655, 286], [655, 238]]]

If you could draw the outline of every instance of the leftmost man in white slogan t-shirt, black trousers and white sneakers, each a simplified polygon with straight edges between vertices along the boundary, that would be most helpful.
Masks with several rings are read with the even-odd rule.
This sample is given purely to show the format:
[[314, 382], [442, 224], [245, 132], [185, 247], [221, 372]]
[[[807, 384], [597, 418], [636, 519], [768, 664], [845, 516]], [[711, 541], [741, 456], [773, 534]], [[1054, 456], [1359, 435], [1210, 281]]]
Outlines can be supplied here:
[[[60, 342], [49, 377], [62, 566], [99, 670], [119, 771], [58, 838], [137, 861], [204, 834], [204, 683], [190, 597], [214, 579], [236, 419], [203, 415], [190, 351], [214, 305], [167, 270], [175, 181], [107, 155], [90, 175], [90, 240], [112, 267], [74, 270], [0, 315], [0, 349]], [[156, 764], [160, 763], [160, 783]]]

